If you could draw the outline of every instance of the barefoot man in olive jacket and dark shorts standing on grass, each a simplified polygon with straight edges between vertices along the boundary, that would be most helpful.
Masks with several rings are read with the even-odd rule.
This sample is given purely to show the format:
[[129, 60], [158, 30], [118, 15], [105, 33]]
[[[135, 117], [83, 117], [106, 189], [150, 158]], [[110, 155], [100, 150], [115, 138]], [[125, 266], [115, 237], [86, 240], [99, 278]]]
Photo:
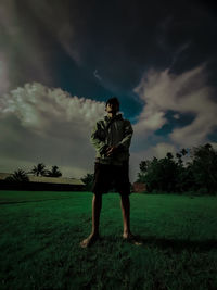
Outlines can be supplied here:
[[116, 97], [107, 100], [105, 105], [107, 115], [97, 122], [91, 134], [91, 142], [97, 150], [94, 164], [94, 181], [92, 187], [92, 232], [80, 242], [80, 247], [91, 245], [100, 237], [100, 212], [102, 194], [107, 193], [115, 186], [120, 194], [124, 234], [123, 238], [136, 243], [136, 237], [130, 231], [130, 182], [129, 182], [129, 146], [132, 137], [132, 127], [129, 121], [124, 119], [119, 111], [119, 101]]

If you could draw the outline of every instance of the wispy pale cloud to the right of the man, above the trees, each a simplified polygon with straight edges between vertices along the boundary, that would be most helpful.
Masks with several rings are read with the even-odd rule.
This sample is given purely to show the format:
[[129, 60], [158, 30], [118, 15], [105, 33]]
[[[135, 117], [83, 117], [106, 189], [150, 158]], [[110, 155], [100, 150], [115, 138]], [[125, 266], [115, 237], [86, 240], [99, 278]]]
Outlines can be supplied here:
[[[138, 117], [136, 131], [149, 137], [167, 123], [168, 110], [195, 115], [193, 122], [181, 128], [174, 128], [169, 135], [177, 146], [191, 147], [207, 141], [207, 135], [217, 125], [217, 104], [212, 100], [213, 89], [207, 86], [205, 65], [180, 75], [150, 71], [135, 91], [145, 102]], [[177, 117], [177, 115], [175, 115]]]

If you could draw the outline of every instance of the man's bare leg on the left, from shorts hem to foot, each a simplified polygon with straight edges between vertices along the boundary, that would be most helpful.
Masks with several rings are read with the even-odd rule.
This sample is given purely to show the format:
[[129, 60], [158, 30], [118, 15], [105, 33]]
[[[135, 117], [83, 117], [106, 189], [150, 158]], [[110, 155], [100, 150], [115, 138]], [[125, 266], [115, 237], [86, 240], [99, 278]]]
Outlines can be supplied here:
[[100, 212], [102, 209], [102, 194], [93, 194], [92, 198], [92, 232], [80, 242], [80, 247], [86, 248], [99, 238]]

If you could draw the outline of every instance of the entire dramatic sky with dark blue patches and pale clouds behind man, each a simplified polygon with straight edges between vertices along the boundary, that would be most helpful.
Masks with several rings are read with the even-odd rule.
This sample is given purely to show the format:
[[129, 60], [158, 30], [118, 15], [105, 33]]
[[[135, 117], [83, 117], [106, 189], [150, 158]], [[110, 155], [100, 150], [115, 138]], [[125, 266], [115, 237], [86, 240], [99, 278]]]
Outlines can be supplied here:
[[141, 160], [217, 146], [217, 10], [212, 1], [0, 1], [0, 172], [43, 162], [93, 172], [104, 102], [131, 121]]

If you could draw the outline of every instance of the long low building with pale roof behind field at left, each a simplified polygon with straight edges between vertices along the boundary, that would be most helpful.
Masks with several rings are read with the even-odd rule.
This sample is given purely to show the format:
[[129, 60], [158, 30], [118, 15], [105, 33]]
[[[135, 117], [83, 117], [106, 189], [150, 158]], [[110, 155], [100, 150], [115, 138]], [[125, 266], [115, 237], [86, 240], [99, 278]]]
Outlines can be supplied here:
[[29, 182], [11, 182], [5, 178], [10, 173], [0, 173], [0, 190], [30, 190], [30, 191], [84, 191], [85, 184], [80, 179], [69, 177], [46, 177], [28, 175]]

